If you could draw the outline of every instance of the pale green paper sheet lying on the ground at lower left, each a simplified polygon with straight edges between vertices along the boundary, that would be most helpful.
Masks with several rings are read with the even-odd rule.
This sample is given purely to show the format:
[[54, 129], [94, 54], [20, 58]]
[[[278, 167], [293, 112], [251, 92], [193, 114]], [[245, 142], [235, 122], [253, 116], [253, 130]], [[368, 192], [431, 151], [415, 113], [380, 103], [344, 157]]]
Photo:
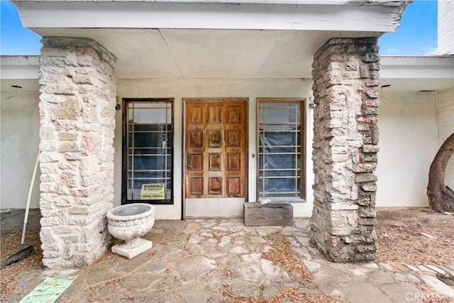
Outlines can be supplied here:
[[21, 299], [20, 303], [53, 303], [77, 277], [77, 275], [72, 277], [47, 277], [26, 297]]

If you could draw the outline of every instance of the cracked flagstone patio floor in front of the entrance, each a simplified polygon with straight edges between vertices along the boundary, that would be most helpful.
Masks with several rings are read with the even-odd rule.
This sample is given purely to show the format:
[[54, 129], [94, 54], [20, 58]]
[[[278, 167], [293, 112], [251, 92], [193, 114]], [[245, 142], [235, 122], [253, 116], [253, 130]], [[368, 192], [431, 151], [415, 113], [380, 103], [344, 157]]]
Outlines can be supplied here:
[[[90, 268], [33, 270], [16, 285], [18, 294], [4, 302], [20, 301], [45, 277], [67, 275], [78, 277], [57, 302], [336, 302], [337, 297], [382, 303], [431, 302], [436, 295], [454, 302], [454, 289], [436, 277], [453, 275], [454, 265], [331, 263], [314, 248], [309, 231], [307, 219], [286, 227], [248, 227], [242, 219], [156, 221], [144, 236], [153, 248], [136, 258], [109, 252]], [[277, 249], [267, 236], [276, 232], [289, 241], [293, 271], [267, 257]], [[310, 275], [301, 275], [299, 262]]]

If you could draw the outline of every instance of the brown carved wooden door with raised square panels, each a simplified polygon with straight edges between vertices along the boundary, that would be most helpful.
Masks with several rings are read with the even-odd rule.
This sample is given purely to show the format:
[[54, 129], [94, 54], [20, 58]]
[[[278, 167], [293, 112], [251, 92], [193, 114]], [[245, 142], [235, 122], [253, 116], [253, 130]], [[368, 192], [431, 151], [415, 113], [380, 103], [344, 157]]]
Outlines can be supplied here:
[[214, 204], [245, 197], [247, 99], [184, 99], [184, 104], [185, 198], [198, 201], [204, 216], [204, 199]]

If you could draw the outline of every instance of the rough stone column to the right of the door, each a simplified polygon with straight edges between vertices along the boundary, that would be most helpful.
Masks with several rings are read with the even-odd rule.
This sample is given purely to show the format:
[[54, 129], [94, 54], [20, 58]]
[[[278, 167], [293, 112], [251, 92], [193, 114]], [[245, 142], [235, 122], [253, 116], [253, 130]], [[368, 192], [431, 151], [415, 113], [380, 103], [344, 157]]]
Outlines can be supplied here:
[[312, 241], [333, 261], [375, 260], [377, 38], [328, 40], [316, 52], [312, 67]]

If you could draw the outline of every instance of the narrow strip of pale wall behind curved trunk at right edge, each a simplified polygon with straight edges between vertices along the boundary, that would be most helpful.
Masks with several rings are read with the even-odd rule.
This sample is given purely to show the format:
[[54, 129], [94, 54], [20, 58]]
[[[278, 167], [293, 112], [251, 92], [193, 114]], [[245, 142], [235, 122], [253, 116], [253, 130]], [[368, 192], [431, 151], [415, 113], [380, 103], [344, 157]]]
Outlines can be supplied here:
[[[454, 89], [438, 92], [438, 148], [454, 133]], [[445, 170], [445, 184], [454, 189], [454, 157], [451, 157]]]

